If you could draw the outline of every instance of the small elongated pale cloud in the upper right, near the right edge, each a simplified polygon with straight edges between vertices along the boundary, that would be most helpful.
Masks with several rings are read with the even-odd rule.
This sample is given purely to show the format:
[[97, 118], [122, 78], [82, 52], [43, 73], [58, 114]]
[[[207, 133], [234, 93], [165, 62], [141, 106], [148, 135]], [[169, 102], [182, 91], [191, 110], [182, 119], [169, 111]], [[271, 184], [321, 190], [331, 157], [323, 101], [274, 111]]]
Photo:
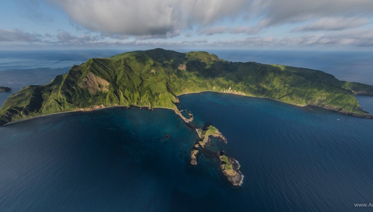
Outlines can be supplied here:
[[359, 27], [367, 24], [369, 21], [367, 18], [344, 18], [344, 17], [328, 17], [320, 18], [319, 20], [304, 26], [294, 29], [295, 32], [307, 32], [307, 31], [337, 31], [344, 30], [354, 27]]

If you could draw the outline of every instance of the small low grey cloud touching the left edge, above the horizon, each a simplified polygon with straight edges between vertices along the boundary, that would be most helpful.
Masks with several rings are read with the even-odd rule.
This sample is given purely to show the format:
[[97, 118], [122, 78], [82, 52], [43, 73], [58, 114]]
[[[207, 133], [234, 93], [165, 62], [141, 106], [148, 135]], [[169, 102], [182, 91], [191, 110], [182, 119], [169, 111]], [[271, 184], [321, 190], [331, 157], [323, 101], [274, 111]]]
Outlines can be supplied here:
[[36, 42], [40, 41], [41, 37], [39, 34], [31, 34], [19, 29], [0, 29], [0, 41]]

